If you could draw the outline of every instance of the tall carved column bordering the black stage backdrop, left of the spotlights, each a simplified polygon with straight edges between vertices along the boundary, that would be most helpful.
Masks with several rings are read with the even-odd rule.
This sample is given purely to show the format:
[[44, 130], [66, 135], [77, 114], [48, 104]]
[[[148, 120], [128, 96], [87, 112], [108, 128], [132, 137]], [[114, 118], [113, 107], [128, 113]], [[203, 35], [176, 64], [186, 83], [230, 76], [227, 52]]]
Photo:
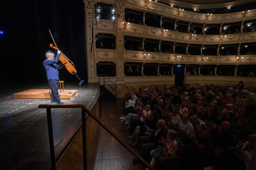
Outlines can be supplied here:
[[97, 82], [95, 77], [94, 47], [93, 47], [93, 19], [94, 19], [94, 0], [84, 0], [85, 3], [85, 22], [86, 22], [86, 48], [88, 65], [88, 83]]

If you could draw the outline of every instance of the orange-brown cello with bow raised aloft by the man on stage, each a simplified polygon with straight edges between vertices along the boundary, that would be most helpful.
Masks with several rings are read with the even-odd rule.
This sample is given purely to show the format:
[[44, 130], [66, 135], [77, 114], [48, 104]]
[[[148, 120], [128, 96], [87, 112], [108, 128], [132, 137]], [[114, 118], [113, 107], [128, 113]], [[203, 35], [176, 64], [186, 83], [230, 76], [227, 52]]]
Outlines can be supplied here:
[[[52, 33], [51, 33], [50, 29], [49, 29], [49, 32], [52, 36]], [[57, 47], [57, 44], [55, 43], [55, 41], [53, 39], [53, 36], [52, 36], [52, 40], [53, 40], [56, 47], [54, 47], [52, 44], [50, 44], [50, 47], [54, 48], [55, 50], [59, 50], [58, 47]], [[70, 59], [68, 59], [68, 57], [66, 57], [62, 52], [60, 52], [60, 53], [61, 54], [60, 54], [59, 60], [65, 65], [65, 67], [68, 69], [69, 73], [76, 75], [77, 71], [76, 71], [76, 68], [75, 68], [73, 62]], [[77, 75], [76, 75], [76, 77], [79, 79], [79, 77]], [[83, 82], [84, 82], [84, 80], [83, 81], [80, 80], [79, 85], [81, 85]]]

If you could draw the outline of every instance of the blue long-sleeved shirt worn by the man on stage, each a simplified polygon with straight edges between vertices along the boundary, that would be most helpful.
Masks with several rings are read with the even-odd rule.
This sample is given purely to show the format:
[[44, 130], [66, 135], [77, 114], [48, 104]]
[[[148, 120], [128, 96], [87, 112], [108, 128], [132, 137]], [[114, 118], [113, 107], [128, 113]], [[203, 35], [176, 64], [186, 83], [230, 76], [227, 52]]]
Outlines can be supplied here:
[[59, 80], [59, 71], [58, 68], [62, 68], [56, 64], [59, 60], [60, 54], [57, 54], [54, 60], [48, 60], [47, 58], [44, 60], [44, 68], [46, 71], [47, 80]]

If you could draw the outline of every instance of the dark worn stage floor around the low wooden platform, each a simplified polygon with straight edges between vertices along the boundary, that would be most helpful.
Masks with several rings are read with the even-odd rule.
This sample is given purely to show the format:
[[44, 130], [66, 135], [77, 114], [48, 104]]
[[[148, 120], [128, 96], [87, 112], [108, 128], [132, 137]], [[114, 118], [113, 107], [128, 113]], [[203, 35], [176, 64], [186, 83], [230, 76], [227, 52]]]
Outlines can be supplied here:
[[[40, 84], [40, 87], [38, 87]], [[12, 85], [14, 86], [14, 85]], [[34, 83], [11, 87], [1, 85], [0, 115], [0, 169], [48, 169], [51, 165], [46, 109], [39, 104], [51, 103], [51, 99], [14, 98], [13, 94], [29, 89], [48, 89], [49, 84]], [[85, 104], [92, 110], [97, 102], [98, 83], [65, 82], [65, 90], [77, 90], [71, 99], [61, 99], [65, 104]], [[68, 141], [82, 124], [81, 109], [52, 109], [53, 138], [57, 158]]]

